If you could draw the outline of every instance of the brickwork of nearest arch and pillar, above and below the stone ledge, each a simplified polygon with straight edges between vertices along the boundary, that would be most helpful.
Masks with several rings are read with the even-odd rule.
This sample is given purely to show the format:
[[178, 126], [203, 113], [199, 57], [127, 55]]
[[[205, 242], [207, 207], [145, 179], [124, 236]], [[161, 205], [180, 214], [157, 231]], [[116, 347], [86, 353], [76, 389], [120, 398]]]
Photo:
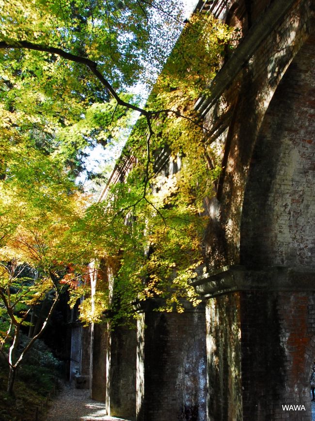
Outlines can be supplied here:
[[[252, 2], [253, 25], [267, 3]], [[295, 1], [205, 116], [209, 129], [216, 123], [217, 133], [224, 129], [224, 169], [216, 197], [205, 201], [210, 273], [233, 264], [315, 269], [311, 15], [311, 1]], [[208, 420], [310, 420], [314, 334], [312, 291], [244, 290], [211, 298]], [[282, 404], [306, 410], [284, 411]]]

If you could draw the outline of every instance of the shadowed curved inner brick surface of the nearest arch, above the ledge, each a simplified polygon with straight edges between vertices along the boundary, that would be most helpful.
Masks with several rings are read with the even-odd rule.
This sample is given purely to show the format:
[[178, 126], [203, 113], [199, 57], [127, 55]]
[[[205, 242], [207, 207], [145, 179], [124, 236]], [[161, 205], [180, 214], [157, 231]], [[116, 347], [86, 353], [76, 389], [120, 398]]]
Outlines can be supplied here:
[[240, 263], [315, 267], [315, 36], [278, 85], [246, 185]]

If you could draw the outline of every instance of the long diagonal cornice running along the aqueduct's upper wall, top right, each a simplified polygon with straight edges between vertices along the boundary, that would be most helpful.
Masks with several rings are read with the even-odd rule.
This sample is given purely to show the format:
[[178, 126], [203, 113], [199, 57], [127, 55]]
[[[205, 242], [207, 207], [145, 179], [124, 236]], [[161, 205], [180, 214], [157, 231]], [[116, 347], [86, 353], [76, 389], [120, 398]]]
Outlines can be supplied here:
[[199, 111], [201, 116], [204, 117], [207, 114], [215, 101], [221, 97], [226, 88], [234, 81], [261, 42], [273, 31], [277, 23], [283, 19], [295, 2], [296, 0], [277, 0], [272, 2], [261, 19], [252, 26], [248, 34], [237, 46], [233, 55], [210, 84], [210, 96], [203, 96], [196, 102], [194, 108], [196, 111]]

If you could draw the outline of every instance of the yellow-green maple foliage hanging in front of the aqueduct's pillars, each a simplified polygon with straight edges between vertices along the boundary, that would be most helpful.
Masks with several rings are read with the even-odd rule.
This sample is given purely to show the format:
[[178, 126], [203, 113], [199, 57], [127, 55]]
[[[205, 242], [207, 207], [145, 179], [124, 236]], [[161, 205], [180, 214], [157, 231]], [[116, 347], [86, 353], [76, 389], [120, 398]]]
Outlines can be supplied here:
[[[107, 201], [94, 204], [86, 214], [89, 228], [83, 230], [91, 242], [98, 242], [116, 276], [113, 299], [105, 283], [107, 295], [98, 291], [93, 306], [90, 300], [81, 305], [83, 320], [99, 321], [104, 312], [126, 320], [134, 315], [130, 303], [135, 298], [165, 298], [161, 309], [168, 311], [183, 311], [182, 298], [198, 303], [188, 281], [204, 259], [203, 200], [213, 194], [220, 161], [192, 108], [215, 74], [232, 32], [211, 17], [202, 22], [193, 17], [192, 25], [157, 80], [146, 105], [150, 111], [142, 113], [126, 144], [125, 156], [134, 156], [136, 166], [124, 183], [112, 186]], [[200, 36], [201, 51], [186, 55], [196, 51], [192, 46]], [[165, 149], [170, 160], [181, 165], [180, 172], [167, 177], [158, 173], [155, 161]]]

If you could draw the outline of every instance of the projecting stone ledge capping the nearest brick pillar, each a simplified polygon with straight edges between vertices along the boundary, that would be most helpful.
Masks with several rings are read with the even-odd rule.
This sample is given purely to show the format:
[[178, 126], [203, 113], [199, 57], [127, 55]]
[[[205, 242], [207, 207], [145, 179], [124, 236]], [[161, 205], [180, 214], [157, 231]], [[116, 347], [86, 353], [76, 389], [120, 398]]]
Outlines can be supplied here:
[[315, 269], [270, 266], [225, 266], [190, 283], [205, 298], [235, 291], [315, 291]]

